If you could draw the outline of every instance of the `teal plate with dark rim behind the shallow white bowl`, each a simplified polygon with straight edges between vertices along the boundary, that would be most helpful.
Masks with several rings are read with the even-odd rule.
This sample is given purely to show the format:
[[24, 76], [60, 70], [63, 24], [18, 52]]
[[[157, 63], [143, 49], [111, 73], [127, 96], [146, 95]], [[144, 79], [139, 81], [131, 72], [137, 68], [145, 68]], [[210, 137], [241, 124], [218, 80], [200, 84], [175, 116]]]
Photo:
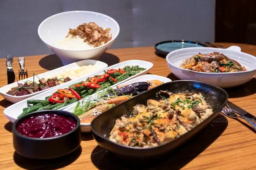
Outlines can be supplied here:
[[155, 45], [156, 53], [167, 55], [171, 51], [188, 47], [207, 47], [206, 45], [194, 41], [171, 40], [163, 41]]

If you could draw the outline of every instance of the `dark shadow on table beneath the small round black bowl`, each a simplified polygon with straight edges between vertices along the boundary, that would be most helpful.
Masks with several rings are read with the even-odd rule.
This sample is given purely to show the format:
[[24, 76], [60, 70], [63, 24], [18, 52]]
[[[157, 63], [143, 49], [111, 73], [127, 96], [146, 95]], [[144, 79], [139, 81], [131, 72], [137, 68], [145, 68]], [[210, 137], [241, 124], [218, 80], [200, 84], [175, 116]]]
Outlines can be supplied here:
[[30, 159], [21, 156], [17, 152], [14, 152], [13, 159], [14, 162], [24, 168], [29, 170], [54, 170], [58, 168], [62, 168], [74, 162], [81, 154], [82, 147], [78, 147], [74, 152], [62, 156], [60, 158], [47, 159], [47, 160], [38, 160], [38, 159]]

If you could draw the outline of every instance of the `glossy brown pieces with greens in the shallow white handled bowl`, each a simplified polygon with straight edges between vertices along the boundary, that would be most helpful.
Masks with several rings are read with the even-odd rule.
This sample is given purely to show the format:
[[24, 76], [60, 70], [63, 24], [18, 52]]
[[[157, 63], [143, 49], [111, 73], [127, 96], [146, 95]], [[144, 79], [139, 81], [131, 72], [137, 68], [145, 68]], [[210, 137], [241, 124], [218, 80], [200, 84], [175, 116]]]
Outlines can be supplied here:
[[246, 70], [237, 61], [218, 52], [198, 53], [183, 61], [180, 67], [198, 72], [239, 72]]

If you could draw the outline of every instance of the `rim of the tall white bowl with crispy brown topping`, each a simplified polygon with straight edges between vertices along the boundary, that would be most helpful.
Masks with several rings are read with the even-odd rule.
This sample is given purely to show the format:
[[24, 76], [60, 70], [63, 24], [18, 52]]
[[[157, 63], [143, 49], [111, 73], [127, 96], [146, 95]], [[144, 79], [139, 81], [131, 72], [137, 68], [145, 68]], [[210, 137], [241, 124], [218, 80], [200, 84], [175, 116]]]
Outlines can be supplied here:
[[[105, 43], [105, 44], [103, 44], [103, 45], [100, 45], [100, 46], [98, 46], [98, 47], [94, 47], [93, 49], [86, 49], [86, 50], [67, 50], [67, 49], [62, 49], [62, 48], [58, 48], [58, 47], [56, 47], [56, 46], [54, 46], [54, 45], [52, 45], [52, 44], [49, 44], [49, 43], [47, 43], [46, 41], [44, 41], [44, 39], [42, 38], [41, 34], [39, 33], [39, 30], [40, 30], [40, 28], [42, 27], [42, 25], [43, 25], [48, 19], [53, 18], [53, 17], [58, 16], [58, 15], [62, 15], [62, 14], [66, 14], [66, 13], [76, 13], [76, 12], [99, 14], [99, 15], [102, 15], [102, 16], [105, 16], [105, 17], [110, 18], [110, 20], [114, 21], [114, 23], [116, 23], [116, 25], [117, 25], [117, 33], [116, 33], [116, 36], [115, 36], [115, 37], [112, 37], [112, 39], [111, 39], [110, 41], [108, 41], [107, 43]], [[99, 12], [93, 12], [93, 11], [66, 11], [66, 12], [60, 12], [60, 13], [58, 13], [58, 14], [54, 14], [54, 15], [49, 16], [48, 18], [44, 19], [44, 20], [40, 23], [40, 25], [38, 26], [38, 29], [37, 29], [38, 36], [40, 37], [40, 39], [41, 39], [44, 43], [46, 43], [47, 45], [49, 45], [49, 46], [51, 46], [51, 47], [54, 47], [54, 48], [56, 48], [56, 49], [62, 50], [62, 51], [91, 51], [91, 50], [99, 49], [99, 48], [101, 48], [101, 47], [104, 47], [104, 46], [108, 45], [108, 44], [111, 43], [112, 41], [114, 41], [114, 40], [116, 39], [116, 37], [118, 36], [119, 32], [120, 32], [120, 26], [119, 26], [118, 22], [117, 22], [116, 20], [114, 20], [114, 18], [112, 18], [112, 17], [110, 17], [110, 16], [107, 16], [107, 15], [105, 15], [105, 14], [102, 14], [102, 13], [99, 13]]]

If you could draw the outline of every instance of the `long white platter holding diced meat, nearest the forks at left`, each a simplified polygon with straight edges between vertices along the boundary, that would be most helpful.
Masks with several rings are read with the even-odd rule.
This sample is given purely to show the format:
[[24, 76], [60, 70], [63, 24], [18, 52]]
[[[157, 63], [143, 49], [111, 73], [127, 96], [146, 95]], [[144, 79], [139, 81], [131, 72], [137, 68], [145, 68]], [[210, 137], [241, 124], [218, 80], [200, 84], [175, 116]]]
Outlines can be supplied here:
[[[52, 75], [56, 75], [56, 74], [62, 73], [64, 70], [76, 69], [76, 68], [79, 68], [80, 66], [84, 66], [84, 65], [97, 66], [98, 67], [97, 70], [101, 70], [101, 69], [106, 68], [108, 66], [108, 64], [106, 64], [104, 62], [96, 61], [96, 60], [92, 60], [92, 59], [87, 59], [87, 60], [78, 61], [76, 63], [71, 63], [71, 64], [68, 64], [66, 66], [62, 66], [62, 67], [56, 68], [54, 70], [50, 70], [50, 71], [44, 72], [42, 74], [38, 74], [37, 76], [39, 78], [46, 78], [46, 77], [50, 78]], [[86, 76], [86, 75], [87, 74], [85, 74], [84, 76]], [[35, 76], [35, 78], [32, 76], [32, 77], [26, 78], [24, 80], [19, 80], [18, 83], [24, 83], [27, 80], [33, 81], [33, 79], [38, 80], [37, 76]], [[83, 77], [83, 76], [81, 76], [81, 77]], [[66, 83], [63, 83], [63, 84], [66, 84]], [[28, 95], [25, 95], [25, 96], [12, 96], [12, 95], [6, 94], [6, 92], [8, 92], [11, 88], [16, 87], [16, 86], [17, 86], [17, 82], [8, 84], [6, 86], [3, 86], [3, 87], [0, 88], [0, 94], [6, 100], [8, 100], [9, 102], [17, 103], [17, 102], [20, 102], [21, 100], [24, 100], [26, 98], [30, 98], [32, 96], [35, 96], [37, 94], [40, 94], [40, 93], [45, 92], [47, 90], [50, 90], [52, 88], [58, 87], [60, 85], [54, 86], [52, 88], [47, 88], [45, 90], [38, 91], [38, 92], [35, 92], [35, 93], [32, 93], [32, 94], [28, 94]]]

